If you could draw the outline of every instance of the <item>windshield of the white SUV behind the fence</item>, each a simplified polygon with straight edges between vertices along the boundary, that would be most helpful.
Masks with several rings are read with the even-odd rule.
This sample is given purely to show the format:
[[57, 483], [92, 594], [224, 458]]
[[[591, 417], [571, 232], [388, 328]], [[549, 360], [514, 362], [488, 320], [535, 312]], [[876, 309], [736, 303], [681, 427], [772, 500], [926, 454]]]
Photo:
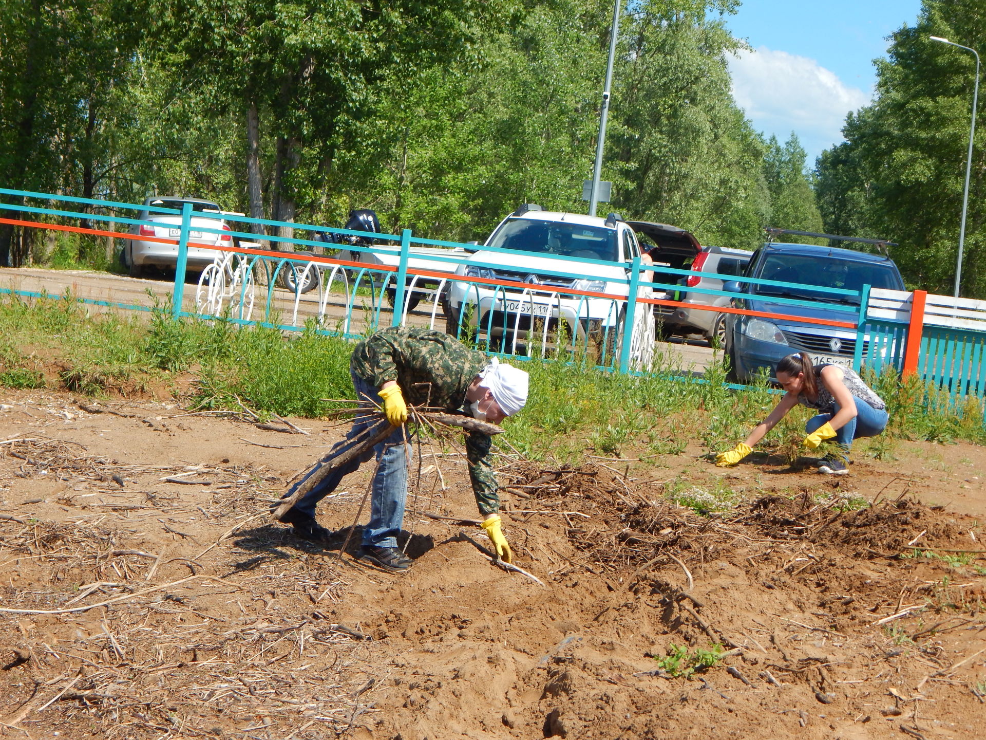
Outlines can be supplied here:
[[490, 247], [541, 255], [563, 255], [617, 261], [616, 230], [601, 226], [513, 218], [503, 225]]

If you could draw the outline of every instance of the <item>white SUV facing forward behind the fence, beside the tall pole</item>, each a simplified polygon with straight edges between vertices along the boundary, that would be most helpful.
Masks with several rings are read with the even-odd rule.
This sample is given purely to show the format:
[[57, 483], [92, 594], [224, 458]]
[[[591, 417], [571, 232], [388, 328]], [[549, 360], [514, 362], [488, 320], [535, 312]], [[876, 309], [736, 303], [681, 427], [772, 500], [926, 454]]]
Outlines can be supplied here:
[[[450, 281], [445, 296], [449, 333], [465, 330], [491, 348], [516, 354], [529, 353], [531, 343], [555, 343], [564, 326], [563, 338], [570, 346], [594, 351], [600, 364], [618, 361], [629, 286], [616, 281], [627, 279], [627, 262], [641, 257], [641, 252], [633, 229], [617, 214], [603, 219], [544, 211], [528, 203], [501, 221], [483, 247], [458, 266], [458, 275], [520, 282], [526, 287]], [[645, 272], [641, 279], [651, 276]], [[650, 297], [650, 289], [641, 288], [638, 295]], [[651, 307], [638, 305], [630, 344], [630, 362], [636, 369], [650, 368], [654, 329]]]

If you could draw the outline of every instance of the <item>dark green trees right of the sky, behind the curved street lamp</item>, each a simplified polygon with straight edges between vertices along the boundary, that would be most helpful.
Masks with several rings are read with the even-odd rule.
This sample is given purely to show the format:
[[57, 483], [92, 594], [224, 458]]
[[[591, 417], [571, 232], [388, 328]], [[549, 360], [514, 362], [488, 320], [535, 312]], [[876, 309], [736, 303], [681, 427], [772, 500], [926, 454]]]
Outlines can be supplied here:
[[[847, 141], [818, 160], [817, 194], [828, 231], [898, 243], [891, 256], [908, 283], [951, 294], [975, 58], [930, 36], [986, 50], [982, 3], [925, 0], [918, 22], [893, 35], [873, 105], [851, 113]], [[980, 128], [961, 288], [976, 298], [986, 297], [984, 174]]]

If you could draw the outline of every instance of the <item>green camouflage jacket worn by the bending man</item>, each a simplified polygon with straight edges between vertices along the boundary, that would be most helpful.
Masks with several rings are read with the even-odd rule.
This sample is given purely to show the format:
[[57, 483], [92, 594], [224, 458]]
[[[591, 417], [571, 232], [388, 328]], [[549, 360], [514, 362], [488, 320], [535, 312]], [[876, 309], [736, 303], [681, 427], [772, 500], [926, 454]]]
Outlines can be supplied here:
[[[396, 381], [408, 404], [455, 412], [465, 406], [465, 391], [487, 362], [485, 354], [447, 333], [391, 327], [359, 342], [349, 367], [377, 389], [389, 380]], [[469, 479], [482, 514], [500, 510], [490, 446], [488, 434], [465, 435]]]

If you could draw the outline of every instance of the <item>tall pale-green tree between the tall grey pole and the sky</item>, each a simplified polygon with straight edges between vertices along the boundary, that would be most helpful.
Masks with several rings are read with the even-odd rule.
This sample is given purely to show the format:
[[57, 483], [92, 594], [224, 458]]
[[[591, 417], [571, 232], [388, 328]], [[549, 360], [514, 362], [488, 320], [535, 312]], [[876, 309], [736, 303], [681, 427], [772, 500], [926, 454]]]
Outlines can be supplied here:
[[[643, 2], [625, 26], [613, 103], [618, 204], [703, 243], [755, 248], [770, 213], [763, 143], [730, 94], [733, 4]], [[712, 16], [708, 18], [707, 16]]]

